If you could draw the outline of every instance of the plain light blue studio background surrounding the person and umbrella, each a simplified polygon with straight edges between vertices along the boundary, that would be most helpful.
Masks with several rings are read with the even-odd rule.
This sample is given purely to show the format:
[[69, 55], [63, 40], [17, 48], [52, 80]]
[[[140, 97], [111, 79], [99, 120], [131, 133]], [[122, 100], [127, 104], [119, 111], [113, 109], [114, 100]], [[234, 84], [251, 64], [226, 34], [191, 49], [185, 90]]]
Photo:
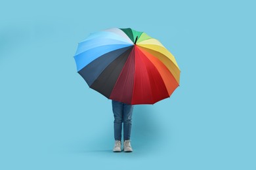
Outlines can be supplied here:
[[[253, 1], [5, 1], [0, 169], [256, 169]], [[139, 105], [134, 152], [112, 153], [111, 101], [76, 73], [89, 33], [132, 27], [181, 68], [171, 98]]]

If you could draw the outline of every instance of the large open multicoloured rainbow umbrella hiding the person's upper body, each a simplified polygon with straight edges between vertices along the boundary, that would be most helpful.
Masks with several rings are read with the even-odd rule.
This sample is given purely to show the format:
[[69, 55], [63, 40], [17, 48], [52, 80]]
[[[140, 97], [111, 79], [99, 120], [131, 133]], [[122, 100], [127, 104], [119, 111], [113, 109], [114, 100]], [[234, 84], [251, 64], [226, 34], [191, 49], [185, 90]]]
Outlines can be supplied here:
[[131, 105], [154, 104], [179, 86], [180, 69], [156, 39], [131, 28], [92, 33], [79, 42], [77, 72], [108, 99]]

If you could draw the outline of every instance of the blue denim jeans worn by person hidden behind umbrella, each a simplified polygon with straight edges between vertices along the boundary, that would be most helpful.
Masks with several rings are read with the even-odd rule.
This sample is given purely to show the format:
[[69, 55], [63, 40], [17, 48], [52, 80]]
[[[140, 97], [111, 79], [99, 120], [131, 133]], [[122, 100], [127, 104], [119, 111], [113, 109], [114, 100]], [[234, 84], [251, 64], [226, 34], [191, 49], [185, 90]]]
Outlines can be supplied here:
[[114, 113], [114, 137], [121, 141], [121, 131], [123, 123], [123, 140], [129, 140], [131, 136], [131, 116], [133, 114], [133, 105], [121, 103], [112, 100], [112, 109]]

